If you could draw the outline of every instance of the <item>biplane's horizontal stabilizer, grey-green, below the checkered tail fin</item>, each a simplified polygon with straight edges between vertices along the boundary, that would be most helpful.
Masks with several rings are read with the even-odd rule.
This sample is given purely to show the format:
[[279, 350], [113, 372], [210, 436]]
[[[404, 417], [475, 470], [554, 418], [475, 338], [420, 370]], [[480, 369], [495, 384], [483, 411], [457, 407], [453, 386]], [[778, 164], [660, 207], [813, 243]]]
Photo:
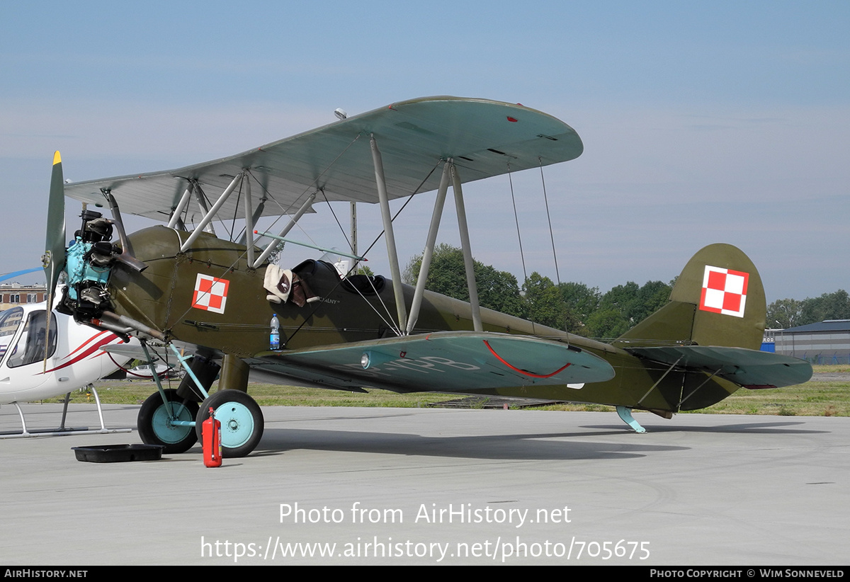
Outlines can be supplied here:
[[667, 346], [626, 348], [626, 352], [677, 368], [703, 370], [745, 388], [793, 386], [812, 377], [812, 365], [802, 359], [747, 348]]

